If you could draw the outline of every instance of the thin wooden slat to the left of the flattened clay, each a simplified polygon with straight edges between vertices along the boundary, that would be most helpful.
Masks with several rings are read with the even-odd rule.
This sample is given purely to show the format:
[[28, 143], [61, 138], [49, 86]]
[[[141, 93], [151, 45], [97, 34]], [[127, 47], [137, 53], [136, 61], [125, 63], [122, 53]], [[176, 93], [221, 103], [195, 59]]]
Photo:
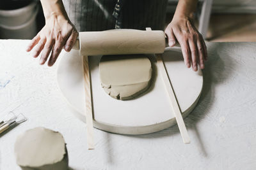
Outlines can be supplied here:
[[90, 69], [88, 63], [88, 56], [83, 56], [84, 66], [84, 92], [85, 92], [85, 106], [86, 106], [86, 131], [87, 131], [87, 148], [88, 150], [94, 149], [93, 139], [93, 116], [92, 116], [92, 92], [90, 83]]

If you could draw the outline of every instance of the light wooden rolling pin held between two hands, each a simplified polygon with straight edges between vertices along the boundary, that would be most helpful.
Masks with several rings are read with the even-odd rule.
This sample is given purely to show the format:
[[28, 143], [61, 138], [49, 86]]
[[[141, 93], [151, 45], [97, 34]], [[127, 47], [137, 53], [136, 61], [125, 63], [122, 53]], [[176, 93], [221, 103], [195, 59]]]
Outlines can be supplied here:
[[79, 32], [73, 48], [80, 50], [81, 55], [163, 53], [165, 38], [163, 31], [88, 31]]

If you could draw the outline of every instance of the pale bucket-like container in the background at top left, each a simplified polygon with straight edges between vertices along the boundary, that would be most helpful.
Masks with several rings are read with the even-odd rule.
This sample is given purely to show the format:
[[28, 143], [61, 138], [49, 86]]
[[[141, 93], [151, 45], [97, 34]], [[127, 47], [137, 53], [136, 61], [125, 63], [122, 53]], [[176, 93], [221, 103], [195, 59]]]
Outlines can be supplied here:
[[[6, 1], [6, 0], [4, 0]], [[31, 39], [36, 35], [37, 1], [7, 0], [0, 5], [0, 38]]]

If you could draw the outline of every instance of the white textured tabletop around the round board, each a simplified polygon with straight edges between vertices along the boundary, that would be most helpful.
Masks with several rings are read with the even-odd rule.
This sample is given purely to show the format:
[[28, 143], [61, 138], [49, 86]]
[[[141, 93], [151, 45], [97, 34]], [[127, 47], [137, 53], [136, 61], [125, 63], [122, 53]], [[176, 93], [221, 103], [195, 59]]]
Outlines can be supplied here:
[[0, 136], [0, 169], [20, 169], [15, 139], [38, 126], [63, 134], [70, 169], [256, 169], [256, 43], [207, 43], [202, 96], [184, 120], [191, 144], [177, 125], [139, 136], [94, 129], [95, 150], [86, 150], [86, 125], [58, 89], [58, 61], [39, 66], [26, 45], [0, 40], [0, 117], [28, 117]]

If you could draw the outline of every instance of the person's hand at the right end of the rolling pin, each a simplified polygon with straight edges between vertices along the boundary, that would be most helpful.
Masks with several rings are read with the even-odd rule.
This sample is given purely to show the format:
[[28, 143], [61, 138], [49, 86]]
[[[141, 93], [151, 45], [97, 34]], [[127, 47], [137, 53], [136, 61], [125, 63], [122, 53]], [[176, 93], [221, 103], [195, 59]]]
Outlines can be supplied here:
[[197, 71], [198, 65], [204, 69], [204, 61], [207, 60], [207, 49], [202, 35], [196, 30], [188, 17], [173, 17], [172, 22], [166, 27], [169, 46], [179, 42], [184, 62], [187, 67], [192, 66]]

